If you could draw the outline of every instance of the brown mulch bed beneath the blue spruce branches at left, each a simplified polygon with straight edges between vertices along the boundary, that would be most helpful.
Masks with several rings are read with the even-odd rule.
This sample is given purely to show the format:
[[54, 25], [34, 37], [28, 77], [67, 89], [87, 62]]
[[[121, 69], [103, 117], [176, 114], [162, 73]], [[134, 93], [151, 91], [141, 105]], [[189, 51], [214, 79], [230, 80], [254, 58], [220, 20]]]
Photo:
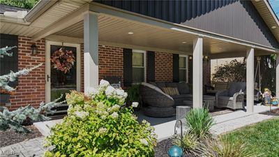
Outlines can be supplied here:
[[24, 140], [29, 140], [35, 137], [43, 136], [40, 131], [35, 126], [26, 126], [29, 130], [32, 130], [33, 133], [23, 134], [15, 133], [14, 130], [0, 131], [0, 147], [5, 147], [10, 144], [16, 144]]

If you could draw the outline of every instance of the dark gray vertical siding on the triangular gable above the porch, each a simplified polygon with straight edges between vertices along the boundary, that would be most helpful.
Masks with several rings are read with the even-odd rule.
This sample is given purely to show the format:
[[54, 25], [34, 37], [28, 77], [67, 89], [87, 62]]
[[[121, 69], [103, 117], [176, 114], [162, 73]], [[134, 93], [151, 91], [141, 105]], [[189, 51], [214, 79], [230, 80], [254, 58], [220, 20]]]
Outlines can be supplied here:
[[279, 48], [251, 1], [239, 0], [98, 0], [108, 6], [160, 20]]

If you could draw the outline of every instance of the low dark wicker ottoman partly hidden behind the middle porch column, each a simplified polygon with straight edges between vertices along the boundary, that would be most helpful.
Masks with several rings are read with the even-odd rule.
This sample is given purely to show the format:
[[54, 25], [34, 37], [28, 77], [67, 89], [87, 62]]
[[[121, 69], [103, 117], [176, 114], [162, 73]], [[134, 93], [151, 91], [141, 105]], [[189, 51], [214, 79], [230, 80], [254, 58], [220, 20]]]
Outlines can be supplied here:
[[[203, 104], [204, 107], [207, 107], [209, 109], [209, 111], [213, 111], [214, 110], [214, 106], [216, 104], [215, 96], [204, 95], [204, 96], [202, 96], [202, 99], [204, 101], [204, 104]], [[186, 106], [193, 107], [193, 99], [183, 100], [183, 103]]]

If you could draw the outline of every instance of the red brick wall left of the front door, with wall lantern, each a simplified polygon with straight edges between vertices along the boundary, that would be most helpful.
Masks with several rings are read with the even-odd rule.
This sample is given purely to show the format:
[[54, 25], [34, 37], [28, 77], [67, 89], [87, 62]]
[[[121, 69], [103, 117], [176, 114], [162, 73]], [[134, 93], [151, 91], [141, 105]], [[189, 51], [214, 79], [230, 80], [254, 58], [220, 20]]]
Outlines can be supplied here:
[[[31, 104], [35, 107], [45, 101], [45, 40], [31, 42], [30, 38], [18, 37], [18, 68], [31, 68], [43, 63], [43, 66], [31, 71], [29, 75], [18, 77], [18, 88], [10, 97], [11, 109]], [[38, 54], [31, 55], [31, 45], [36, 44]]]

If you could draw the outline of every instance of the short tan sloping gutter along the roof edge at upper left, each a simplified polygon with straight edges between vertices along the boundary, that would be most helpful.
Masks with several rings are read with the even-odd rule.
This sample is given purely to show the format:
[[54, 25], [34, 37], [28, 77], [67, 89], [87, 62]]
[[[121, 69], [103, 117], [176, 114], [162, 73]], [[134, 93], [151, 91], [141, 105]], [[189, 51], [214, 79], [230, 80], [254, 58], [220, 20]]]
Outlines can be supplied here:
[[24, 17], [24, 21], [33, 22], [40, 15], [45, 13], [47, 9], [54, 5], [59, 0], [40, 0]]

